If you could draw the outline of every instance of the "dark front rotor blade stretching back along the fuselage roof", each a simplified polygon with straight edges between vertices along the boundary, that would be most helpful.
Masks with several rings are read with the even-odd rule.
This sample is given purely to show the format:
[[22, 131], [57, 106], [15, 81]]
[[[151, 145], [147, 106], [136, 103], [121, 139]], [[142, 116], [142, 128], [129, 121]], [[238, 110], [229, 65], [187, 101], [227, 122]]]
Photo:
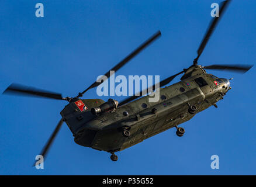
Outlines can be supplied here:
[[[167, 85], [167, 84], [168, 84], [169, 82], [171, 82], [175, 77], [177, 77], [179, 74], [182, 74], [183, 72], [184, 72], [184, 71], [181, 71], [181, 72], [179, 72], [178, 74], [172, 75], [171, 77], [168, 77], [168, 78], [164, 79], [163, 81], [161, 81], [161, 82], [159, 83], [159, 87], [162, 87], [162, 86]], [[155, 90], [155, 85], [153, 85], [153, 86], [151, 87], [151, 89], [152, 89], [152, 91], [154, 91], [154, 90]], [[141, 96], [142, 96], [142, 93], [144, 93], [144, 92], [148, 93], [148, 88], [147, 88], [146, 90], [144, 89], [143, 91], [140, 91], [139, 95], [138, 95], [138, 94], [137, 94], [137, 95], [133, 95], [133, 96], [130, 96], [129, 98], [124, 99], [123, 101], [121, 101], [121, 102], [119, 103], [118, 106], [122, 106], [122, 105], [124, 105], [124, 104], [126, 104], [126, 103], [128, 103], [128, 102], [130, 102], [130, 101], [133, 101], [134, 99], [137, 99], [137, 98], [141, 97]]]

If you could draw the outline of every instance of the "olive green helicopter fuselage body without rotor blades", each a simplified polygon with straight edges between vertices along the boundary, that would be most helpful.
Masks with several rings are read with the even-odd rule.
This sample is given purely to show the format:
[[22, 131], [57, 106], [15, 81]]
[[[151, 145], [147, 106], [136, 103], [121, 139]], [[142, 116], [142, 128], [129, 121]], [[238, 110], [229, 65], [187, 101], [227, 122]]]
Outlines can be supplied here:
[[[203, 78], [207, 85], [198, 84], [196, 78]], [[121, 151], [188, 121], [196, 113], [215, 105], [229, 90], [227, 82], [216, 85], [216, 78], [199, 66], [190, 68], [181, 79], [176, 84], [160, 88], [158, 102], [149, 102], [150, 95], [147, 95], [112, 112], [95, 116], [90, 108], [104, 101], [82, 99], [88, 110], [80, 112], [72, 102], [61, 111], [61, 116], [70, 127], [75, 143], [96, 150]], [[195, 113], [189, 112], [191, 105], [196, 106]], [[129, 137], [123, 136], [123, 129], [129, 129]]]

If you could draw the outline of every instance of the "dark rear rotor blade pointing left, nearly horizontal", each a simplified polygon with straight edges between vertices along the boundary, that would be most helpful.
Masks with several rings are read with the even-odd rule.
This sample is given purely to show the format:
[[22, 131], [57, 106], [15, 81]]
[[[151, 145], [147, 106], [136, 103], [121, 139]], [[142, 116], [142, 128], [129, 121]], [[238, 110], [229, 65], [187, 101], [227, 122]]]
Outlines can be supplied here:
[[60, 93], [44, 91], [42, 89], [23, 86], [19, 84], [11, 84], [8, 88], [5, 89], [3, 93], [16, 94], [16, 95], [33, 95], [33, 96], [40, 96], [43, 98], [65, 100]]

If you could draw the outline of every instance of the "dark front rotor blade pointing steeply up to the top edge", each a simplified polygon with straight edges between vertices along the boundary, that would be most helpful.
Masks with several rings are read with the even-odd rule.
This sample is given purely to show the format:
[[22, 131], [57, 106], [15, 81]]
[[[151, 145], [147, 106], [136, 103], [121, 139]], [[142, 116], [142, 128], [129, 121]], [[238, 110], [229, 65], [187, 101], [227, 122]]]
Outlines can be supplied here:
[[205, 49], [205, 46], [208, 42], [208, 40], [210, 39], [210, 36], [213, 33], [213, 30], [215, 30], [215, 27], [217, 26], [217, 23], [219, 22], [219, 19], [222, 18], [222, 15], [224, 13], [224, 11], [227, 8], [227, 5], [229, 5], [231, 0], [226, 0], [221, 2], [220, 4], [220, 8], [219, 8], [219, 17], [215, 17], [212, 19], [212, 21], [210, 22], [210, 25], [207, 29], [207, 32], [205, 34], [205, 37], [203, 37], [202, 43], [200, 44], [199, 48], [198, 48], [198, 57], [196, 57], [193, 61], [193, 64], [197, 64], [198, 63], [198, 58], [201, 56], [203, 50]]

